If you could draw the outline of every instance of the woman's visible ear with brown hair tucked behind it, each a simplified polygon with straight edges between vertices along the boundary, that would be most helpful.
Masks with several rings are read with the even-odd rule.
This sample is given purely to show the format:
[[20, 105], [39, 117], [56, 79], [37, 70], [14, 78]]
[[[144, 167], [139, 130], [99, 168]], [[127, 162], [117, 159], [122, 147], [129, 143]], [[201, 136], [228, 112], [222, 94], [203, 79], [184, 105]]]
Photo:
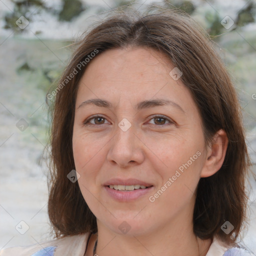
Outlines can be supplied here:
[[225, 158], [227, 144], [226, 132], [223, 129], [218, 130], [208, 147], [200, 177], [209, 177], [220, 169]]

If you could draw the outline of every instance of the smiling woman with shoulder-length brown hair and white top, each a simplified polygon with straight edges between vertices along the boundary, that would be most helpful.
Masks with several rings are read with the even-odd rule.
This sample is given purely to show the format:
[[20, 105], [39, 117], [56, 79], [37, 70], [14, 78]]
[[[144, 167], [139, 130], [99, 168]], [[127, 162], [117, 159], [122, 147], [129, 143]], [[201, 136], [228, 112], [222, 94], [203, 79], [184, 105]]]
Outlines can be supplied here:
[[252, 255], [236, 244], [250, 163], [237, 95], [189, 16], [114, 13], [78, 43], [55, 95], [57, 239], [1, 256]]

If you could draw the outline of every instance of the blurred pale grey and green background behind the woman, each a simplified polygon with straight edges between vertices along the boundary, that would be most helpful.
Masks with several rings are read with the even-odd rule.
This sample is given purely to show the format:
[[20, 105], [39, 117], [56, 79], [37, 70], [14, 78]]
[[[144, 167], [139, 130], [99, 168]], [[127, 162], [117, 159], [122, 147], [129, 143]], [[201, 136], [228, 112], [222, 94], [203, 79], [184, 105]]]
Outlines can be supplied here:
[[[51, 238], [45, 97], [69, 60], [69, 45], [110, 9], [151, 13], [156, 5], [186, 11], [210, 34], [239, 94], [256, 172], [255, 0], [0, 0], [0, 249]], [[249, 225], [241, 243], [256, 254], [253, 178], [250, 185]]]

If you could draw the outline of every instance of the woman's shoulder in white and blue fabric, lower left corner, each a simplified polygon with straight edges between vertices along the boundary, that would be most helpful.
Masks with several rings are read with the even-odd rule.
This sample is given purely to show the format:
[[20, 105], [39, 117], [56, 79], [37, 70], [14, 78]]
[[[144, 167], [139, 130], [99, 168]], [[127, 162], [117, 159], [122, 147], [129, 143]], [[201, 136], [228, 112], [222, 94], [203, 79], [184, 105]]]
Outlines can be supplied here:
[[28, 246], [15, 246], [0, 250], [0, 256], [62, 256], [80, 255], [85, 251], [89, 232], [65, 236]]

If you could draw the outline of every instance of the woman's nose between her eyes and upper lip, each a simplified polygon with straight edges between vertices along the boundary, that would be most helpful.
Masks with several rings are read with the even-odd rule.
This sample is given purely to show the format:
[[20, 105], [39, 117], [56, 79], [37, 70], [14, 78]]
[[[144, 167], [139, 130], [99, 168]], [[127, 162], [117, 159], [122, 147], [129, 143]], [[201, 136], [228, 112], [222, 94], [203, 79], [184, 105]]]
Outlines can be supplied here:
[[145, 145], [134, 125], [131, 124], [127, 130], [121, 125], [116, 126], [115, 133], [109, 141], [107, 160], [122, 168], [141, 164], [144, 160], [143, 146]]

